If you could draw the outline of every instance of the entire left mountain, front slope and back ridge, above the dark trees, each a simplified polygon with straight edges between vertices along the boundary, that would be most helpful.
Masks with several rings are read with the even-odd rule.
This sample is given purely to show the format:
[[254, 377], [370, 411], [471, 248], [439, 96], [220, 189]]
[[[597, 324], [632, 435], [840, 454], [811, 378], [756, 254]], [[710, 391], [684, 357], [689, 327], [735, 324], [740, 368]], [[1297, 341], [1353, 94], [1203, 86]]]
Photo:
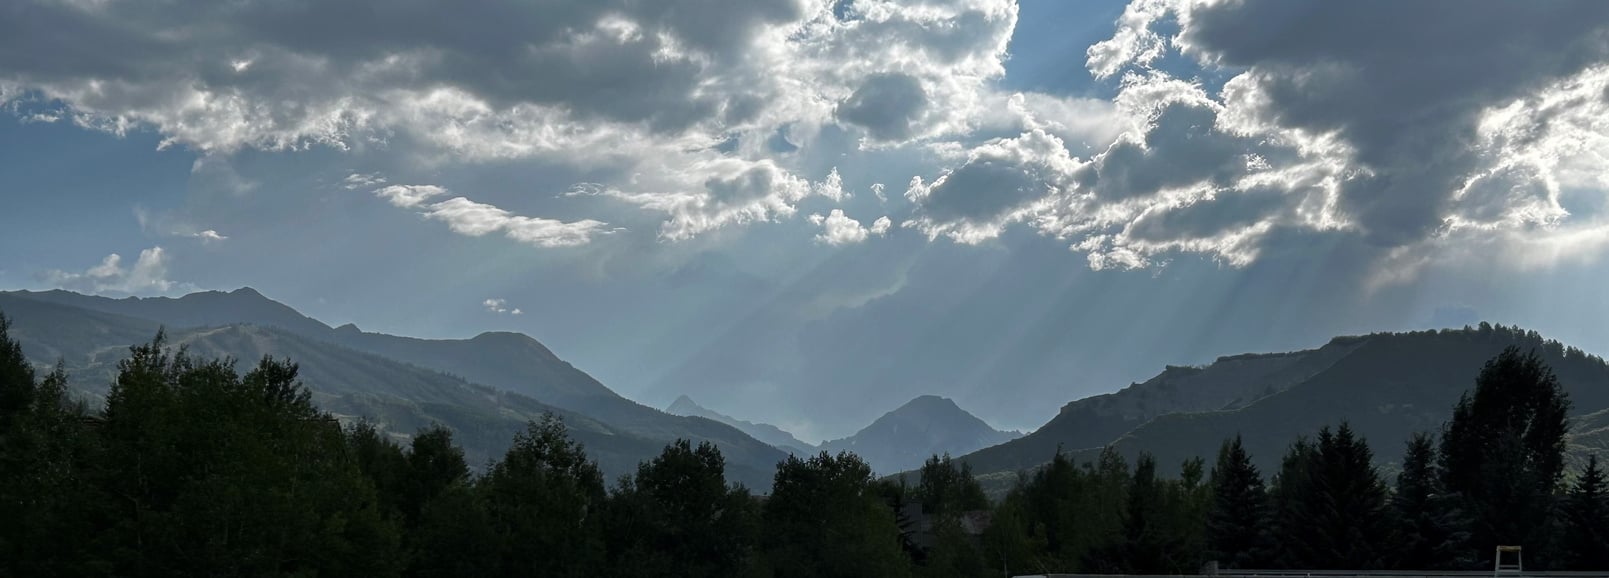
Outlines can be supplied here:
[[500, 456], [525, 423], [555, 414], [610, 477], [674, 440], [710, 441], [727, 475], [767, 488], [787, 454], [706, 419], [669, 415], [626, 399], [518, 333], [417, 340], [331, 328], [251, 288], [182, 298], [109, 299], [69, 291], [0, 291], [13, 336], [40, 367], [58, 359], [79, 396], [100, 404], [130, 345], [163, 327], [198, 357], [290, 357], [314, 401], [343, 419], [407, 436], [431, 423], [459, 435], [471, 464]]

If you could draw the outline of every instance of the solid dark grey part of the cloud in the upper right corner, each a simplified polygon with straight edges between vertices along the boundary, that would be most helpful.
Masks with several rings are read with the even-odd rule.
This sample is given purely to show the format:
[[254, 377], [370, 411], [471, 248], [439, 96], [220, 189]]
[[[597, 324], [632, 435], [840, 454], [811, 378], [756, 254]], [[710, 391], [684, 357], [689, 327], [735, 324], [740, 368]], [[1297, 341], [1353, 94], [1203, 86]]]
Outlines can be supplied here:
[[1429, 235], [1482, 163], [1480, 114], [1609, 58], [1603, 2], [1221, 2], [1181, 43], [1249, 69], [1255, 114], [1335, 134], [1372, 175], [1342, 208], [1377, 242]]

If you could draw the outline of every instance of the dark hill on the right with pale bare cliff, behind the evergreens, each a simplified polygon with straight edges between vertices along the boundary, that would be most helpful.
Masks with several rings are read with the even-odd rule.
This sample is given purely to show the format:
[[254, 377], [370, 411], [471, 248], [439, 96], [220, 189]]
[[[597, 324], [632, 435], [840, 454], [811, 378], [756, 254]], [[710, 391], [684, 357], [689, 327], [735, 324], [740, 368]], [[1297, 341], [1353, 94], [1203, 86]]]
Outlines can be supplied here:
[[1318, 349], [1220, 357], [1205, 367], [1168, 367], [1144, 383], [1068, 403], [1033, 433], [959, 457], [980, 475], [1046, 464], [1059, 449], [1073, 460], [1102, 448], [1155, 457], [1176, 473], [1191, 457], [1242, 436], [1263, 472], [1276, 472], [1297, 436], [1350, 423], [1376, 444], [1376, 460], [1401, 462], [1403, 440], [1438, 431], [1471, 390], [1482, 364], [1508, 346], [1535, 351], [1569, 393], [1572, 460], [1609, 449], [1609, 365], [1537, 332], [1488, 325], [1339, 336]]

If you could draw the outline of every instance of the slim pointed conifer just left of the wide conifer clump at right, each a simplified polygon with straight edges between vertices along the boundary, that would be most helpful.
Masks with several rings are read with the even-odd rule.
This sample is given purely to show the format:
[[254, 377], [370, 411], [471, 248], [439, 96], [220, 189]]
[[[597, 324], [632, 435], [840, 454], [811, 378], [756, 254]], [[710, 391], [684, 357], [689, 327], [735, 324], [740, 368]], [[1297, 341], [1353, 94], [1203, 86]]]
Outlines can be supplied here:
[[1263, 477], [1252, 465], [1241, 436], [1226, 440], [1212, 470], [1213, 502], [1207, 514], [1207, 546], [1224, 568], [1265, 564], [1261, 530], [1266, 523]]

